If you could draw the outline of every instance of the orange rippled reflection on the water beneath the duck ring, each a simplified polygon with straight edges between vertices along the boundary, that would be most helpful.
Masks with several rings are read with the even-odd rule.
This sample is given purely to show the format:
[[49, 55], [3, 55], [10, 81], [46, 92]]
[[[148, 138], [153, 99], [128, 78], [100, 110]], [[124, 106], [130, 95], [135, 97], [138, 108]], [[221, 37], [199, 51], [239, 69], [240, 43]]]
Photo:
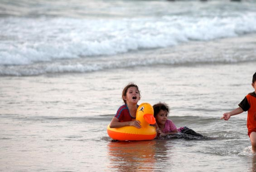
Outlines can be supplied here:
[[168, 158], [165, 143], [164, 140], [110, 142], [108, 167], [118, 172], [154, 172], [159, 160]]

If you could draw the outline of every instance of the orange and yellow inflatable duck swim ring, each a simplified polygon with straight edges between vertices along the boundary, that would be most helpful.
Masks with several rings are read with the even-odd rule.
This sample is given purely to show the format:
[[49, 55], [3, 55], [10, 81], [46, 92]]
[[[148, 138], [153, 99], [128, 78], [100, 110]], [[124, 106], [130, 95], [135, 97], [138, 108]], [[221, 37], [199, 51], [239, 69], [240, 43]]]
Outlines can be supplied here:
[[136, 112], [136, 120], [140, 121], [141, 128], [126, 126], [110, 128], [107, 126], [107, 134], [115, 140], [152, 140], [155, 139], [156, 131], [154, 109], [149, 103], [141, 103]]

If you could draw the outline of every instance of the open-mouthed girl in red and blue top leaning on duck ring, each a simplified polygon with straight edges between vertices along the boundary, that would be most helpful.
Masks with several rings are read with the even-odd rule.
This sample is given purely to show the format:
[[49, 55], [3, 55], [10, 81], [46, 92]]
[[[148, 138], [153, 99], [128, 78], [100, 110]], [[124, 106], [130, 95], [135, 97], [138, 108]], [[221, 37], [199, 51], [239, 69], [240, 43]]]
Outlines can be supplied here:
[[112, 118], [109, 127], [120, 128], [124, 126], [135, 126], [141, 128], [140, 121], [135, 120], [136, 111], [139, 106], [137, 103], [140, 100], [139, 87], [134, 83], [128, 84], [122, 92], [122, 99], [125, 104], [119, 107], [116, 115]]

